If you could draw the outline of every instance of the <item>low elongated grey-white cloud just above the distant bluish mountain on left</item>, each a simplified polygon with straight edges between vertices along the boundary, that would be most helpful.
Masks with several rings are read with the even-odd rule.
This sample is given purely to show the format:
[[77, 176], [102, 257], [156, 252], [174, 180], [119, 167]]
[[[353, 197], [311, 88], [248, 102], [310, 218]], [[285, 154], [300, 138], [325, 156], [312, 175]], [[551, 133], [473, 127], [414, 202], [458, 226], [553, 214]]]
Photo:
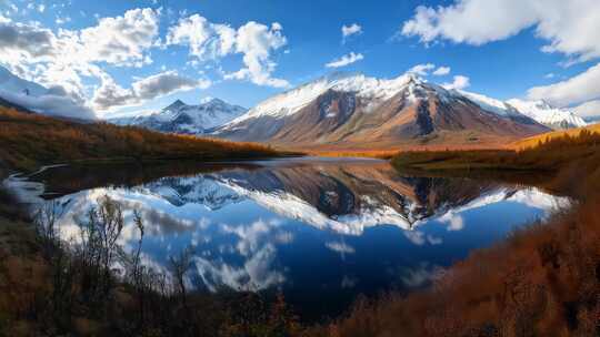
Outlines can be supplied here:
[[99, 111], [140, 105], [150, 100], [171, 94], [177, 91], [206, 89], [208, 80], [192, 80], [179, 75], [176, 71], [166, 71], [132, 83], [131, 89], [123, 89], [111, 79], [104, 79], [93, 96], [93, 105]]

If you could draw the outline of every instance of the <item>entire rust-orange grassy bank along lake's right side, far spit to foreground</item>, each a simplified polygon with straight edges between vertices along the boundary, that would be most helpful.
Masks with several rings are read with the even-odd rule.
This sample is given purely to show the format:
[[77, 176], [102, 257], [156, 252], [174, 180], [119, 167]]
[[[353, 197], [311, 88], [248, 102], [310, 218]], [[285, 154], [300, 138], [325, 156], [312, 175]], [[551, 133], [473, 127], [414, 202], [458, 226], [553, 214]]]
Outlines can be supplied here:
[[478, 249], [408, 296], [361, 300], [329, 336], [600, 336], [600, 135], [538, 141], [521, 151], [409, 152], [392, 162], [422, 174], [546, 171], [544, 187], [573, 207]]

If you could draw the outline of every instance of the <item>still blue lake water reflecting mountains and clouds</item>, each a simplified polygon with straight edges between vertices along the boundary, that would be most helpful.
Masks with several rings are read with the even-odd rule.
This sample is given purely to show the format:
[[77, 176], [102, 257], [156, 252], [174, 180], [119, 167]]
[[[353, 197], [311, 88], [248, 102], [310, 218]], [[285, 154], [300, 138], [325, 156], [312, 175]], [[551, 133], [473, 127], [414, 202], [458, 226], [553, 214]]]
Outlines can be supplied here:
[[568, 204], [534, 187], [404, 176], [374, 160], [66, 166], [30, 180], [43, 185], [12, 184], [30, 202], [59, 202], [66, 239], [77, 241], [77, 218], [108, 195], [126, 210], [126, 248], [138, 243], [140, 211], [147, 265], [164, 269], [192, 247], [196, 287], [282, 292], [312, 318], [341, 313], [358, 294], [422, 287], [470, 251]]

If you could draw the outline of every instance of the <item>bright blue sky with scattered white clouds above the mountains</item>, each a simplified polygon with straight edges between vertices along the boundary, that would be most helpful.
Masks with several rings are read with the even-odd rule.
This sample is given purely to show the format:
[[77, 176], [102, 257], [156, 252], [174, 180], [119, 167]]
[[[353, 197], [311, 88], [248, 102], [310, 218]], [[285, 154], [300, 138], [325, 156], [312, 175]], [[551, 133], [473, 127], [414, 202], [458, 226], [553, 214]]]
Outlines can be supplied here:
[[[66, 61], [60, 61], [61, 67], [52, 67], [51, 62], [59, 61], [39, 55], [29, 58], [31, 51], [20, 51], [18, 45], [7, 42], [4, 48], [12, 49], [7, 49], [9, 57], [0, 55], [0, 64], [47, 86], [52, 84], [50, 82], [67, 83], [63, 86], [69, 93], [100, 115], [156, 110], [174, 99], [198, 103], [204, 96], [218, 96], [250, 108], [331, 71], [393, 78], [427, 63], [436, 65], [428, 74], [423, 73], [428, 80], [451, 83], [460, 75], [469, 79], [469, 86], [462, 85], [463, 89], [497, 99], [547, 99], [556, 105], [596, 106], [600, 92], [588, 92], [589, 89], [583, 94], [573, 92], [600, 79], [596, 76], [597, 71], [592, 71], [600, 57], [600, 38], [596, 32], [600, 31], [596, 23], [600, 21], [600, 6], [594, 2], [0, 0], [0, 24], [12, 25], [21, 32], [48, 30], [52, 48], [59, 45], [66, 50], [71, 48], [70, 43], [77, 43], [73, 50], [82, 50], [79, 52], [83, 55], [72, 53], [79, 60], [69, 62], [77, 62], [77, 67]], [[561, 17], [556, 17], [552, 10], [558, 10]], [[133, 11], [137, 16], [131, 16], [129, 25], [119, 25], [119, 20]], [[486, 17], [494, 11], [500, 18]], [[192, 17], [196, 20], [191, 20]], [[584, 18], [590, 20], [582, 20]], [[498, 24], [497, 19], [502, 24]], [[117, 23], [102, 23], [103, 20]], [[242, 28], [251, 28], [252, 21], [253, 29], [243, 35]], [[411, 21], [412, 28], [407, 28]], [[148, 25], [149, 22], [156, 27]], [[186, 22], [189, 24], [183, 29]], [[572, 27], [574, 22], [583, 25], [584, 37]], [[360, 29], [343, 38], [342, 27], [352, 24]], [[141, 32], [141, 38], [134, 32], [130, 39], [121, 41], [124, 47], [104, 41], [107, 48], [123, 48], [120, 54], [111, 55], [102, 50], [90, 55], [92, 52], [87, 51], [94, 39], [110, 35], [114, 25], [146, 31]], [[230, 35], [217, 33], [223, 25]], [[178, 27], [179, 34], [176, 33]], [[90, 28], [97, 28], [98, 35], [86, 42], [82, 31]], [[202, 40], [202, 34], [208, 40]], [[77, 42], [66, 38], [72, 35], [77, 37]], [[191, 39], [197, 41], [196, 53]], [[250, 42], [244, 49], [240, 47], [244, 41]], [[228, 48], [220, 44], [229, 42], [233, 44]], [[346, 67], [326, 67], [350, 53], [360, 55], [360, 60]], [[250, 61], [244, 61], [246, 58]], [[248, 64], [258, 64], [258, 68], [252, 70]], [[450, 72], [433, 75], [439, 67], [448, 67]], [[72, 71], [74, 74], [67, 74], [66, 69], [77, 70]], [[251, 71], [242, 74], [243, 69]], [[157, 78], [160, 74], [169, 76]], [[591, 78], [581, 80], [586, 74]], [[144, 82], [144, 79], [150, 80]], [[156, 91], [159, 84], [154, 82], [159, 80], [170, 81], [171, 86]], [[73, 84], [78, 81], [80, 83]], [[132, 89], [139, 81], [142, 82], [138, 89]], [[576, 89], [573, 81], [579, 85]]]

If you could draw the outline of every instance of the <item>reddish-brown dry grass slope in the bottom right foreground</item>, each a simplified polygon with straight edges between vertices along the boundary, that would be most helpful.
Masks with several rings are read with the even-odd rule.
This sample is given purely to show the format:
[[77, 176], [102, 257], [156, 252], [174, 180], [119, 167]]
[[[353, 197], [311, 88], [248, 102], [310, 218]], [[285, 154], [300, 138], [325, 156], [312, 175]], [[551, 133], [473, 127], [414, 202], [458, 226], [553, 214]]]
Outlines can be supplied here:
[[598, 205], [472, 253], [429, 290], [359, 302], [329, 336], [598, 336]]

